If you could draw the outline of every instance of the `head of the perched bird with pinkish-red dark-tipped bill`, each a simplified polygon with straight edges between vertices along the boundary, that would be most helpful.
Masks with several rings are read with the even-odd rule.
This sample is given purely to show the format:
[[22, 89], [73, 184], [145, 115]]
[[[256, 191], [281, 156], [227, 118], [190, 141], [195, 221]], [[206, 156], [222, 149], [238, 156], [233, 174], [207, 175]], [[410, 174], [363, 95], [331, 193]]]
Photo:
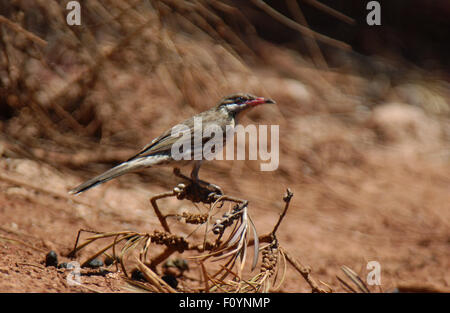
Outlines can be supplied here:
[[239, 113], [264, 103], [275, 103], [275, 101], [268, 98], [256, 97], [248, 93], [235, 93], [222, 98], [217, 108], [226, 110], [229, 114], [236, 116]]

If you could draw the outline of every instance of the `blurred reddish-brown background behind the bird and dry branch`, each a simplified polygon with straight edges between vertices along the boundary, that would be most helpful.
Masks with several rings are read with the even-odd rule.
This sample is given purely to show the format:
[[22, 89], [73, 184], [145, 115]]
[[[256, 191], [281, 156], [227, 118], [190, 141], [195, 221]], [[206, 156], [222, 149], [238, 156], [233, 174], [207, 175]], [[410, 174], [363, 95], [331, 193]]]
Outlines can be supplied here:
[[[279, 168], [214, 161], [203, 179], [248, 199], [261, 233], [291, 188], [279, 239], [334, 291], [371, 260], [373, 291], [448, 290], [450, 2], [378, 1], [380, 26], [368, 2], [89, 0], [69, 26], [68, 1], [0, 0], [3, 231], [64, 249], [82, 227], [151, 229], [170, 169], [67, 190], [243, 91], [277, 102], [241, 122], [280, 125]], [[288, 272], [281, 291], [308, 286]]]

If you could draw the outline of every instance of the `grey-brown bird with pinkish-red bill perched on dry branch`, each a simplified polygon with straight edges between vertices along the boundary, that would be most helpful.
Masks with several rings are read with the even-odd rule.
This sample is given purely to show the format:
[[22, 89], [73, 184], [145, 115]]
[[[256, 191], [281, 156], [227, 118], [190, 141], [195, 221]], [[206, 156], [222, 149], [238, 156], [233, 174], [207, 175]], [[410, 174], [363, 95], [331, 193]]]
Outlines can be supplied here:
[[[192, 158], [190, 158], [190, 160], [186, 158], [180, 159], [172, 153], [174, 145], [176, 143], [182, 146], [182, 144], [192, 144], [194, 142], [194, 139], [192, 137], [188, 137], [187, 139], [183, 140], [182, 138], [180, 138], [180, 136], [173, 136], [174, 129], [178, 127], [178, 129], [189, 130], [191, 133], [193, 133], [196, 127], [196, 121], [201, 121], [201, 127], [203, 131], [211, 125], [217, 125], [222, 131], [222, 136], [219, 138], [222, 138], [223, 144], [225, 144], [227, 138], [226, 132], [229, 130], [234, 130], [235, 126], [238, 124], [239, 118], [250, 109], [265, 103], [275, 104], [276, 102], [269, 98], [257, 97], [252, 94], [242, 92], [225, 96], [220, 99], [217, 104], [211, 109], [198, 113], [193, 117], [181, 122], [180, 124], [177, 124], [174, 127], [166, 130], [161, 136], [153, 139], [149, 144], [144, 146], [141, 151], [139, 151], [133, 157], [118, 164], [110, 170], [78, 185], [77, 187], [71, 189], [69, 193], [80, 194], [113, 178], [143, 168], [156, 166], [173, 166], [177, 168], [178, 166], [184, 166], [190, 163], [193, 164], [193, 169], [190, 175], [192, 181], [203, 182], [199, 179], [198, 172], [204, 159], [195, 157], [195, 147], [194, 149], [191, 148], [190, 150], [183, 151], [184, 153], [190, 153], [191, 156], [193, 156]], [[212, 137], [212, 134], [210, 136], [205, 135], [200, 143], [203, 145], [208, 140], [212, 139]], [[213, 150], [214, 149], [212, 149], [212, 151]], [[218, 151], [213, 152], [217, 153]]]

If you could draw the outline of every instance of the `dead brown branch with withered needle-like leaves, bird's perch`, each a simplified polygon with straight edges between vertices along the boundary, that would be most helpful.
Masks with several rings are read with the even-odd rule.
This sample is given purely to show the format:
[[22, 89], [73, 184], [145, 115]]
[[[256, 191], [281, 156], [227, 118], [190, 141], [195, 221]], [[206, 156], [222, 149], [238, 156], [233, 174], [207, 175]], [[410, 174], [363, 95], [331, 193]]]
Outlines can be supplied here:
[[[129, 278], [124, 264], [124, 256], [130, 251], [136, 249], [138, 246], [141, 246], [138, 258], [139, 269], [144, 274], [146, 279], [155, 288], [157, 288], [158, 292], [176, 292], [173, 288], [169, 289], [170, 286], [162, 281], [155, 273], [156, 267], [167, 260], [174, 252], [183, 253], [185, 251], [196, 251], [202, 253], [208, 251], [208, 254], [191, 257], [199, 258], [204, 283], [203, 291], [205, 292], [210, 292], [216, 289], [220, 289], [221, 291], [233, 292], [257, 292], [260, 290], [269, 291], [272, 285], [275, 285], [276, 281], [278, 280], [278, 270], [279, 266], [281, 266], [278, 263], [281, 260], [284, 270], [282, 271], [281, 278], [276, 288], [279, 288], [284, 281], [286, 274], [286, 264], [287, 262], [289, 262], [295, 269], [297, 269], [297, 271], [299, 271], [299, 273], [311, 286], [313, 292], [326, 292], [325, 290], [320, 288], [318, 284], [311, 278], [310, 269], [301, 265], [288, 252], [282, 249], [276, 239], [276, 232], [278, 231], [282, 220], [286, 216], [291, 199], [294, 195], [290, 191], [290, 189], [286, 190], [286, 194], [283, 197], [285, 205], [273, 230], [268, 234], [258, 236], [253, 222], [251, 222], [250, 216], [248, 215], [247, 200], [235, 198], [228, 195], [217, 194], [214, 192], [209, 192], [209, 194], [207, 194], [207, 190], [205, 188], [202, 188], [203, 187], [201, 186], [195, 185], [195, 183], [191, 183], [190, 185], [178, 184], [172, 191], [158, 194], [150, 199], [150, 202], [155, 210], [155, 214], [157, 215], [159, 221], [161, 222], [161, 226], [165, 229], [165, 231], [154, 230], [153, 233], [137, 233], [133, 231], [100, 233], [96, 231], [80, 230], [77, 235], [75, 247], [70, 255], [74, 256], [77, 251], [83, 249], [84, 247], [98, 239], [114, 237], [114, 241], [112, 243], [107, 244], [106, 246], [95, 252], [93, 255], [89, 256], [88, 259], [83, 262], [82, 266], [86, 265], [88, 262], [98, 257], [99, 255], [106, 253], [109, 249], [112, 249], [113, 255], [116, 256], [116, 246], [121, 242], [125, 242], [119, 253], [118, 260], [125, 276]], [[184, 218], [195, 217], [196, 219], [199, 216], [191, 216], [189, 214], [163, 215], [156, 202], [157, 200], [166, 197], [176, 197], [178, 200], [188, 199], [193, 203], [202, 202], [205, 204], [209, 204], [210, 208], [207, 216], [208, 218], [206, 219], [206, 217], [203, 217], [203, 224], [208, 222], [209, 218], [211, 217], [211, 211], [213, 211], [214, 208], [221, 208], [222, 204], [225, 201], [236, 203], [234, 204], [233, 209], [227, 211], [222, 216], [222, 219], [216, 221], [216, 223], [214, 224], [222, 225], [223, 228], [232, 226], [234, 224], [234, 228], [231, 230], [229, 238], [221, 242], [221, 237], [218, 237], [215, 239], [215, 241], [211, 242], [206, 240], [205, 234], [203, 243], [196, 244], [189, 242], [188, 238], [186, 238], [185, 236], [171, 233], [166, 222], [167, 217], [181, 216]], [[238, 221], [238, 223], [234, 223], [235, 221]], [[184, 222], [187, 223], [186, 220]], [[253, 238], [252, 240], [249, 240], [248, 236], [250, 235], [249, 231], [251, 231], [251, 229], [253, 229]], [[94, 233], [94, 235], [87, 237], [83, 243], [78, 245], [78, 241], [82, 232], [90, 232]], [[216, 233], [216, 235], [219, 234], [220, 232]], [[268, 243], [269, 245], [261, 247], [261, 242]], [[151, 258], [149, 262], [146, 262], [147, 251], [149, 250], [149, 246], [152, 243], [156, 245], [163, 245], [165, 246], [165, 249], [158, 255]], [[247, 248], [249, 246], [254, 246], [255, 248], [252, 270], [257, 264], [257, 256], [260, 250], [266, 250], [264, 250], [265, 253], [263, 253], [264, 260], [261, 267], [261, 273], [253, 277], [251, 280], [247, 281], [242, 278], [242, 270], [246, 263], [245, 256]], [[270, 247], [270, 250], [267, 250], [269, 249], [268, 247]], [[212, 261], [219, 261], [222, 259], [226, 259], [226, 261], [221, 265], [220, 270], [211, 275], [207, 271], [204, 263], [204, 261], [208, 258], [211, 258]], [[233, 272], [232, 270], [235, 265], [238, 266], [237, 273]], [[225, 281], [225, 278], [230, 274], [234, 276], [234, 279], [231, 281]]]

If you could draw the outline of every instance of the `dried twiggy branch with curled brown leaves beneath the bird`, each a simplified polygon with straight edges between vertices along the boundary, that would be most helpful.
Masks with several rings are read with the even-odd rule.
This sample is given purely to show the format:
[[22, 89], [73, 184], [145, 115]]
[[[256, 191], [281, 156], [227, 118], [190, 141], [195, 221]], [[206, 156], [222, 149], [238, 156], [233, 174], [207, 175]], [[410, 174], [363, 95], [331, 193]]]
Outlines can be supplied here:
[[[273, 231], [270, 234], [258, 236], [256, 228], [248, 214], [248, 201], [216, 193], [206, 195], [206, 190], [202, 189], [204, 187], [193, 187], [189, 183], [184, 185], [179, 184], [176, 188], [178, 188], [177, 191], [156, 195], [152, 199], [154, 201], [151, 201], [155, 212], [159, 211], [160, 221], [162, 221], [161, 226], [164, 228], [164, 225], [167, 225], [165, 222], [168, 217], [180, 217], [177, 219], [179, 223], [205, 226], [206, 230], [201, 241], [179, 236], [170, 231], [159, 230], [154, 230], [152, 233], [137, 233], [133, 231], [101, 233], [80, 230], [75, 247], [69, 256], [74, 257], [77, 252], [85, 249], [94, 242], [104, 239], [109, 240], [108, 244], [91, 254], [82, 263], [82, 266], [86, 266], [91, 260], [101, 255], [110, 255], [108, 251], [112, 250], [111, 257], [118, 260], [122, 271], [129, 279], [126, 269], [126, 256], [131, 255], [133, 251], [137, 250], [139, 251], [139, 256], [135, 258], [135, 261], [138, 264], [138, 268], [158, 292], [176, 292], [175, 289], [168, 286], [156, 274], [158, 264], [162, 262], [166, 262], [167, 264], [169, 257], [175, 252], [183, 254], [188, 251], [194, 252], [195, 254], [187, 258], [195, 260], [201, 268], [202, 277], [199, 281], [203, 282], [204, 292], [268, 292], [277, 290], [282, 285], [287, 262], [292, 263], [292, 258], [279, 246], [278, 240], [276, 239], [276, 231], [279, 229], [281, 221], [286, 215], [289, 202], [293, 196], [290, 190], [287, 191], [283, 198], [285, 207]], [[181, 194], [182, 196], [180, 197]], [[162, 199], [169, 196], [176, 197], [180, 200], [191, 199], [191, 201], [195, 200], [197, 202], [204, 201], [203, 203], [209, 205], [210, 208], [208, 209], [208, 213], [204, 214], [184, 212], [182, 214], [163, 215], [155, 199]], [[215, 199], [215, 201], [211, 202], [211, 199]], [[222, 214], [220, 219], [212, 223], [211, 214], [216, 211], [219, 212], [226, 202], [232, 205], [230, 205], [228, 211]], [[212, 223], [212, 227], [206, 227], [208, 223]], [[90, 232], [93, 234], [79, 243], [82, 232]], [[251, 235], [253, 239], [249, 238]], [[268, 244], [261, 247], [260, 242], [266, 242]], [[153, 251], [154, 245], [163, 246], [165, 250], [149, 259], [147, 257], [148, 253]], [[244, 279], [243, 271], [247, 264], [247, 250], [250, 246], [254, 247], [251, 269], [253, 270], [256, 267], [260, 251], [262, 251], [262, 263], [259, 274], [246, 280]], [[220, 263], [220, 268], [216, 271], [211, 271], [213, 268], [212, 265], [216, 262]], [[280, 269], [282, 269], [281, 274], [279, 274]], [[231, 276], [231, 279], [227, 279], [228, 276]], [[279, 282], [276, 285], [277, 280]], [[320, 288], [314, 287], [314, 281], [309, 277], [309, 272], [306, 275], [306, 280], [313, 287], [313, 291], [320, 291]], [[150, 288], [148, 290], [153, 289]]]

